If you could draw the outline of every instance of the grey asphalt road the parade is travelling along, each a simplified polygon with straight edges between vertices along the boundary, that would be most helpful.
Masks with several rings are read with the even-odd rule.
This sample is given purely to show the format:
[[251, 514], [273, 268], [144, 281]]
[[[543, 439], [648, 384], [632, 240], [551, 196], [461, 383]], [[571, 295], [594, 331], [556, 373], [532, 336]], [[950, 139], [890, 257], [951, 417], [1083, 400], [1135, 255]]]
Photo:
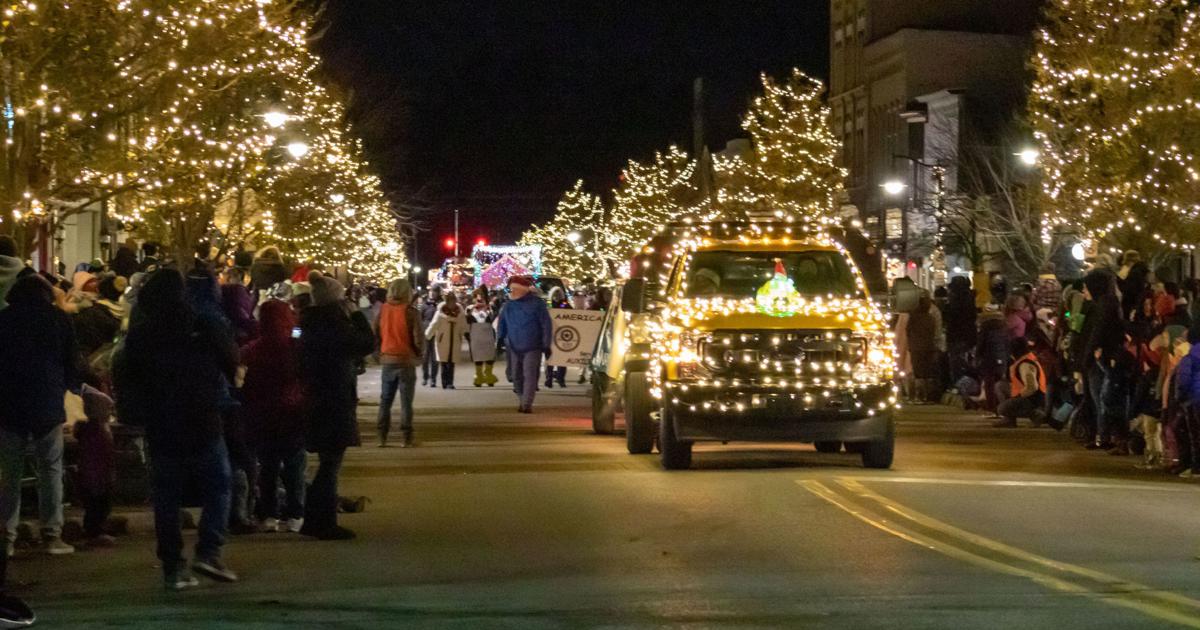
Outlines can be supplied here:
[[1200, 626], [1200, 487], [1049, 430], [920, 407], [892, 470], [728, 445], [665, 473], [590, 433], [583, 386], [529, 416], [460, 383], [377, 449], [365, 377], [355, 541], [239, 536], [241, 583], [168, 594], [139, 534], [19, 557], [14, 589], [47, 628]]

